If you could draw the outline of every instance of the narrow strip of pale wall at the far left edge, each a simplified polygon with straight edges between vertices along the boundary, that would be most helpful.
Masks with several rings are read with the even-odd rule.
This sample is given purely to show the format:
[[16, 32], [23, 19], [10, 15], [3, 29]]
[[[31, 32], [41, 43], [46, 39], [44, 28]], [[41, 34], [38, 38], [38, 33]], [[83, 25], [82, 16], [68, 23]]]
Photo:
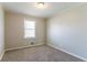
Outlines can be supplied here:
[[4, 22], [3, 22], [3, 9], [0, 6], [0, 59], [4, 52]]

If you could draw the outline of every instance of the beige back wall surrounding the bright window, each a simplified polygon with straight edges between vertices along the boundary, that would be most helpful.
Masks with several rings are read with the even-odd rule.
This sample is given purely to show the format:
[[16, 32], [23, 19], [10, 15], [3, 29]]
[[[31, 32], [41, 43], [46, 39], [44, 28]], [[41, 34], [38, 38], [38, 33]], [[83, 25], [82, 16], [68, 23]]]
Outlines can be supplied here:
[[[24, 19], [36, 22], [36, 39], [24, 39]], [[45, 43], [45, 19], [6, 12], [6, 48], [32, 46]]]

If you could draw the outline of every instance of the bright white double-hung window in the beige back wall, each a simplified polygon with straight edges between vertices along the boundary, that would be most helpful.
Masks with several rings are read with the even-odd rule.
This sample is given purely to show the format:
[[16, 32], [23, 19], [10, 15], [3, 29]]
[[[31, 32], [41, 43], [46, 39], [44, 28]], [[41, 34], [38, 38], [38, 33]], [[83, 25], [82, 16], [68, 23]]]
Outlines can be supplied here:
[[24, 20], [24, 37], [35, 37], [35, 21]]

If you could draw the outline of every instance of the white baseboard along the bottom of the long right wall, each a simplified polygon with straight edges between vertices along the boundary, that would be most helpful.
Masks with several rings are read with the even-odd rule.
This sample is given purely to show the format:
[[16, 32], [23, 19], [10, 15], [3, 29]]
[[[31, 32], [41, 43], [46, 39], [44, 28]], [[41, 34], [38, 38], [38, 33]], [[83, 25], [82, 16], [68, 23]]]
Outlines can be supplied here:
[[79, 58], [79, 59], [83, 59], [83, 61], [87, 62], [87, 58], [84, 58], [84, 57], [78, 56], [78, 55], [76, 55], [76, 54], [69, 53], [69, 52], [67, 52], [66, 50], [63, 50], [62, 47], [55, 47], [55, 46], [53, 46], [52, 44], [47, 44], [47, 45], [51, 46], [51, 47], [54, 47], [54, 48], [56, 48], [56, 50], [59, 50], [59, 51], [62, 51], [62, 52], [64, 52], [64, 53], [67, 53], [67, 54], [72, 55], [72, 56], [75, 56], [75, 57], [77, 57], [77, 58]]

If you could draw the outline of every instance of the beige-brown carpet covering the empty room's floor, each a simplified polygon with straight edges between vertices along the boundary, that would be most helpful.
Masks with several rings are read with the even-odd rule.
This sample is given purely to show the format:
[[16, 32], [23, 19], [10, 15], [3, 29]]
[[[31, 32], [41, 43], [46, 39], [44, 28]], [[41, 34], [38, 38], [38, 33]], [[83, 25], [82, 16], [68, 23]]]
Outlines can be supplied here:
[[6, 52], [2, 62], [83, 62], [47, 45]]

